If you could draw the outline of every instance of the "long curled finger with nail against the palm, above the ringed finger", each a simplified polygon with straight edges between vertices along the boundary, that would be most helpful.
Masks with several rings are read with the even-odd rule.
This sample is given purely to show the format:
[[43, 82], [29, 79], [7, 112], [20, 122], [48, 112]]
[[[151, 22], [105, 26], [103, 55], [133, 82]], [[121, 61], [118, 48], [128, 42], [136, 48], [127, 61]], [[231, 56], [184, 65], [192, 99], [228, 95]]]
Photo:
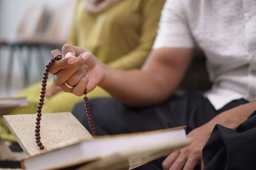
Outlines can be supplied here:
[[[85, 52], [85, 53], [81, 54], [79, 57], [77, 57], [78, 62], [75, 65], [73, 65], [70, 68], [63, 69], [63, 70], [59, 71], [58, 74], [53, 75], [54, 85], [60, 87], [64, 82], [66, 82], [68, 79], [70, 79], [70, 77], [73, 74], [75, 74], [76, 71], [78, 71], [81, 67], [84, 66], [84, 64], [87, 62], [87, 60], [90, 59], [90, 56], [91, 56], [91, 54], [89, 52]], [[87, 65], [85, 65], [83, 68], [85, 68], [85, 67], [87, 68]], [[87, 71], [88, 71], [88, 68], [86, 70], [84, 69], [84, 72], [87, 72]]]

